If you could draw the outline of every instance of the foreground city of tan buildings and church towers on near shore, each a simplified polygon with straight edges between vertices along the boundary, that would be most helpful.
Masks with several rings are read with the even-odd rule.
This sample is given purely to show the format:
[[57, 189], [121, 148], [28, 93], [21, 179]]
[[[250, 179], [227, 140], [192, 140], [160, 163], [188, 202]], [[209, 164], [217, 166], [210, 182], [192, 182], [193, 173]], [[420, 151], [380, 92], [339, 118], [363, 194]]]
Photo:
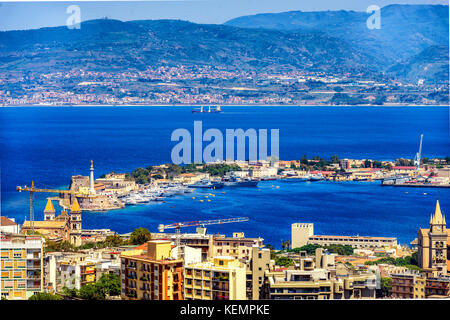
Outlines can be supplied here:
[[[439, 201], [411, 245], [396, 238], [315, 235], [292, 224], [277, 250], [261, 237], [81, 228], [75, 200], [35, 232], [1, 217], [2, 299], [267, 300], [450, 298], [450, 232]], [[429, 213], [424, 212], [424, 220]], [[57, 224], [67, 235], [49, 240]], [[289, 228], [287, 225], [286, 228]]]

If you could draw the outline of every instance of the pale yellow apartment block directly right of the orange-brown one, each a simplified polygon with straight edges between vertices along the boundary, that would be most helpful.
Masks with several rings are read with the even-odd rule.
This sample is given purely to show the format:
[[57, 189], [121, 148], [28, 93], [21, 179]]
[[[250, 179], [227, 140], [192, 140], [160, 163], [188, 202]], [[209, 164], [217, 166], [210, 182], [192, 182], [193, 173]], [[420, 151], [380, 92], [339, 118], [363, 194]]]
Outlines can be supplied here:
[[184, 268], [186, 300], [245, 300], [246, 266], [230, 256], [217, 256], [207, 262]]

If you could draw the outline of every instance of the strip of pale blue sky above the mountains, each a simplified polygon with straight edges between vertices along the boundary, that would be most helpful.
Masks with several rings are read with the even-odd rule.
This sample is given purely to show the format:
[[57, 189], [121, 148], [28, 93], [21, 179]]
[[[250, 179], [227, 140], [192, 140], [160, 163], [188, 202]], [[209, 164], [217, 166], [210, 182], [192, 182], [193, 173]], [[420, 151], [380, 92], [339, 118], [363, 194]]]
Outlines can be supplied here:
[[448, 4], [447, 0], [164, 0], [164, 1], [48, 1], [1, 2], [0, 30], [23, 30], [66, 24], [70, 5], [81, 9], [81, 21], [110, 19], [181, 19], [220, 24], [243, 15], [292, 10], [366, 11], [370, 5]]

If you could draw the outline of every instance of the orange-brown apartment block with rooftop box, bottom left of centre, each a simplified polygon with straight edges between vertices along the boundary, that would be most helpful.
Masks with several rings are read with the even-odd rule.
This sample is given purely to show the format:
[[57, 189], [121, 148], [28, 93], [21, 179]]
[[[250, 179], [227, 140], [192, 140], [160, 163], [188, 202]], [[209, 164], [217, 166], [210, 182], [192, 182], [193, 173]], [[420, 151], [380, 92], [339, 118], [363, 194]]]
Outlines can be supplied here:
[[183, 300], [183, 260], [172, 258], [170, 240], [121, 253], [121, 297], [125, 300]]

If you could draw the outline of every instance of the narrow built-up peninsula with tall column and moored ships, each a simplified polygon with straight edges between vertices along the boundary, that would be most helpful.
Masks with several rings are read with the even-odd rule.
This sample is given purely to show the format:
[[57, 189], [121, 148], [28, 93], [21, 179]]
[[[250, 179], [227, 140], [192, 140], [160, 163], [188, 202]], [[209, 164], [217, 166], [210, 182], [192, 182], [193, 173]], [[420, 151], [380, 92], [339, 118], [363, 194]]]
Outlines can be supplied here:
[[[251, 188], [258, 187], [261, 181], [271, 180], [285, 183], [380, 181], [380, 186], [449, 188], [450, 165], [447, 161], [431, 159], [427, 164], [411, 166], [399, 165], [404, 161], [339, 160], [335, 157], [331, 161], [269, 159], [185, 166], [163, 164], [137, 168], [131, 173], [111, 172], [97, 179], [94, 179], [91, 163], [90, 176], [72, 176], [69, 190], [60, 190], [59, 197], [52, 199], [57, 199], [64, 209], [70, 209], [76, 198], [83, 211], [108, 211], [166, 202], [167, 198], [189, 195], [196, 189]], [[316, 169], [318, 167], [320, 170]]]

